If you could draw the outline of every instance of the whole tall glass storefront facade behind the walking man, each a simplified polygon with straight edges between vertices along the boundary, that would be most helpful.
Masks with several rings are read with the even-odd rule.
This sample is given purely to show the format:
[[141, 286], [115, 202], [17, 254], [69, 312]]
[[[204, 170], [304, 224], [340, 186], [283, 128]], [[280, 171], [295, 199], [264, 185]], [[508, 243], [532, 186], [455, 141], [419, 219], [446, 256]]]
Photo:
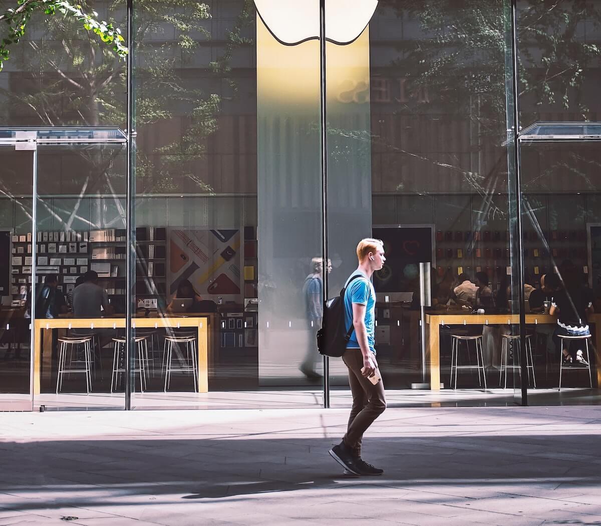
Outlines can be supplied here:
[[30, 24], [0, 409], [348, 406], [315, 334], [362, 237], [390, 405], [601, 400], [601, 0], [142, 0], [130, 70]]

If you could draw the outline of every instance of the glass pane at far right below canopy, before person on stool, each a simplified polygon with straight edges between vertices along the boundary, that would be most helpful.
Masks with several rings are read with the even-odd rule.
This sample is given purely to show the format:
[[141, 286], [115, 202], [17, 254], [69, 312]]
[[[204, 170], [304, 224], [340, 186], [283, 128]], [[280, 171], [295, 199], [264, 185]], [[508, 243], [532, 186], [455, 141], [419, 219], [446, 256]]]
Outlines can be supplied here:
[[600, 161], [597, 142], [521, 145], [529, 405], [600, 400]]

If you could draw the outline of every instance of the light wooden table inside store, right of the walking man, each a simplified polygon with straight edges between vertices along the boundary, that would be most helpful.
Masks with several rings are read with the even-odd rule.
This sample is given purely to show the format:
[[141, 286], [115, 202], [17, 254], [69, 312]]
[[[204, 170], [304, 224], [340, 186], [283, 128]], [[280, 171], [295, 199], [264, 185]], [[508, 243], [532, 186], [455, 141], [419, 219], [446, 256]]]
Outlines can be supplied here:
[[[519, 314], [469, 314], [454, 311], [441, 311], [426, 314], [426, 362], [430, 369], [430, 389], [441, 388], [441, 325], [519, 325]], [[595, 363], [597, 365], [597, 385], [601, 385], [601, 314], [591, 314], [589, 322], [595, 324]], [[526, 325], [537, 323], [557, 324], [557, 318], [551, 314], [526, 314]]]

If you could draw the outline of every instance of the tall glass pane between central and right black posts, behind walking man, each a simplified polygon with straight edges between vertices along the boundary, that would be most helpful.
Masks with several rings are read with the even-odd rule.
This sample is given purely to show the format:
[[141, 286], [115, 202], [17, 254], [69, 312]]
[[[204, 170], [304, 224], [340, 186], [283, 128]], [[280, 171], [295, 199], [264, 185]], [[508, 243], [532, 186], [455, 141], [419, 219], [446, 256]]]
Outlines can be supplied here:
[[[382, 239], [374, 332], [392, 405], [514, 403], [507, 17], [488, 0], [380, 2], [353, 44], [328, 46], [330, 293], [359, 239]], [[331, 362], [332, 405], [348, 405]]]

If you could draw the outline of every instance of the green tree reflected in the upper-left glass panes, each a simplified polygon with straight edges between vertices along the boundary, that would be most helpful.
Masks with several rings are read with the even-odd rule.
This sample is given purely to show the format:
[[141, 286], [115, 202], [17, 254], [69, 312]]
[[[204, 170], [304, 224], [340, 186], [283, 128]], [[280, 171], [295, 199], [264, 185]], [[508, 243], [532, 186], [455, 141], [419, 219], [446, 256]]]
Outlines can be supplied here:
[[[91, 12], [92, 7], [112, 27], [124, 25], [123, 1], [82, 2], [82, 10]], [[234, 50], [248, 43], [242, 33], [253, 20], [251, 7], [252, 0], [240, 2], [219, 56], [194, 67], [206, 70], [209, 77], [227, 78]], [[6, 8], [6, 2], [0, 4], [0, 13]], [[183, 129], [172, 135], [168, 144], [154, 148], [150, 155], [138, 152], [136, 177], [147, 192], [168, 192], [176, 186], [172, 183], [175, 176], [192, 179], [198, 192], [212, 191], [186, 169], [206, 154], [206, 140], [218, 127], [216, 115], [222, 103], [219, 90], [201, 89], [186, 75], [186, 68], [203, 56], [201, 48], [211, 38], [210, 18], [209, 5], [202, 2], [136, 2], [136, 127], [169, 126], [176, 113], [186, 115]], [[31, 126], [126, 128], [122, 57], [96, 35], [79, 31], [79, 24], [76, 17], [31, 17], [28, 40], [13, 49], [12, 62], [20, 73], [11, 72], [8, 87], [0, 84], [0, 96], [7, 101], [6, 121]], [[104, 171], [102, 163], [96, 185], [102, 185]], [[99, 188], [92, 184], [90, 189]]]

